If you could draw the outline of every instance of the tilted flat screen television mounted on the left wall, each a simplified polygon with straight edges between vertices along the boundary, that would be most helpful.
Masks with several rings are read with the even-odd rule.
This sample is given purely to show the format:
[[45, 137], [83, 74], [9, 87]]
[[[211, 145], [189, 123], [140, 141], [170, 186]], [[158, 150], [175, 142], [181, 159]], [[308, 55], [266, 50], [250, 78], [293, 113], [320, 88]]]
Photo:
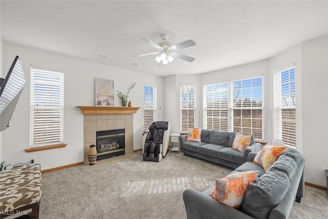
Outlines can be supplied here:
[[25, 85], [25, 76], [19, 57], [16, 56], [0, 89], [0, 131], [9, 127], [9, 121]]

